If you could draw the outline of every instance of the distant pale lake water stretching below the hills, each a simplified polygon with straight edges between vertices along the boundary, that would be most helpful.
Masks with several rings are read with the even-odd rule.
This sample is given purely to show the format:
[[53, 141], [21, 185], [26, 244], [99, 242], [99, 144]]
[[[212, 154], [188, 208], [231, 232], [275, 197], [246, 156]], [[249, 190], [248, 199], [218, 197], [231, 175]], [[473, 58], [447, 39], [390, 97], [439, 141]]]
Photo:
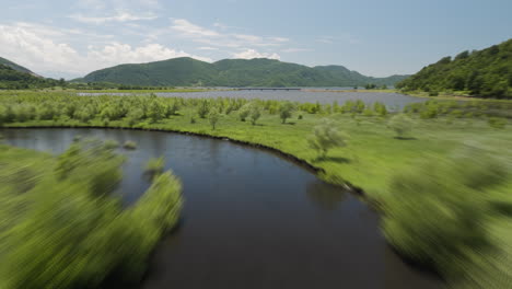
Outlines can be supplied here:
[[[80, 95], [101, 95], [105, 93], [80, 93]], [[114, 95], [127, 95], [129, 93], [110, 93]], [[259, 99], [259, 100], [281, 100], [293, 102], [319, 102], [333, 103], [337, 101], [342, 104], [346, 101], [361, 100], [368, 104], [382, 102], [389, 108], [404, 107], [408, 103], [424, 102], [424, 99], [411, 97], [398, 93], [380, 92], [315, 92], [315, 91], [205, 91], [205, 92], [183, 92], [183, 93], [155, 93], [160, 96], [168, 97], [233, 97], [233, 99]]]

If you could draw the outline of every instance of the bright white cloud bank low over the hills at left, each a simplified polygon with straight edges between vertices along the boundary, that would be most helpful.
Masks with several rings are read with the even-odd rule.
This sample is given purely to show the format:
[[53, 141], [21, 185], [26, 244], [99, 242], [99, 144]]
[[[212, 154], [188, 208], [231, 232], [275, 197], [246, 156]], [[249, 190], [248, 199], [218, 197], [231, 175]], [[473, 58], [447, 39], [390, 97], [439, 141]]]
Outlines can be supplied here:
[[[70, 74], [85, 74], [93, 70], [120, 63], [158, 61], [176, 57], [193, 57], [212, 61], [209, 58], [150, 43], [133, 47], [114, 42], [107, 45], [89, 45], [84, 53], [79, 53], [57, 38], [62, 32], [44, 32], [42, 27], [30, 25], [0, 25], [0, 55], [26, 66], [34, 72], [66, 71]], [[43, 32], [43, 33], [40, 33]], [[40, 34], [39, 34], [40, 33]]]

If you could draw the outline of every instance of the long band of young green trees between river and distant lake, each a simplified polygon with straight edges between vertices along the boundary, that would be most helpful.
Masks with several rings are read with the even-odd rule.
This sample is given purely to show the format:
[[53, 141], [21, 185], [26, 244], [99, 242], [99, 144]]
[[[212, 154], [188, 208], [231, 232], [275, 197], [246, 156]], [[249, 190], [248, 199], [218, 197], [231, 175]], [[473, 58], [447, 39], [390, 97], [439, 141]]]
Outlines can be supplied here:
[[240, 120], [249, 119], [253, 125], [264, 113], [278, 115], [282, 123], [293, 112], [329, 115], [334, 113], [386, 116], [388, 111], [382, 103], [366, 105], [362, 101], [347, 101], [344, 105], [319, 103], [292, 103], [244, 99], [183, 99], [151, 96], [93, 96], [75, 97], [66, 93], [20, 93], [0, 95], [0, 124], [30, 120], [74, 119], [89, 123], [102, 119], [127, 122], [133, 126], [140, 122], [158, 123], [179, 115], [182, 108], [194, 109], [199, 118], [208, 118], [216, 126], [220, 115], [237, 114]]

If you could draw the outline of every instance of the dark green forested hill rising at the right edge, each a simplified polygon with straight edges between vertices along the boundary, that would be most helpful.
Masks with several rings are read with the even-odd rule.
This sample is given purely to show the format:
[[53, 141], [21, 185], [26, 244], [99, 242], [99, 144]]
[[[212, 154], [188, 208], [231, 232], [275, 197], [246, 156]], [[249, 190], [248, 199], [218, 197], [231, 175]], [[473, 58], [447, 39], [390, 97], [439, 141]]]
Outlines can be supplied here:
[[512, 39], [482, 50], [444, 57], [399, 82], [404, 90], [467, 91], [484, 97], [512, 97]]

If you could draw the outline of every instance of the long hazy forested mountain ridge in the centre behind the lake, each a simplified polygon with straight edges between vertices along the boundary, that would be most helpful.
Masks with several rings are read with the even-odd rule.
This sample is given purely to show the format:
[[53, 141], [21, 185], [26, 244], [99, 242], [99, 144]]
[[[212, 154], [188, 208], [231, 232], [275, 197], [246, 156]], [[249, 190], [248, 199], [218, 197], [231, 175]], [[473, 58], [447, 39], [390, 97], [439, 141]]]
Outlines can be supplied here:
[[266, 58], [224, 59], [209, 63], [184, 57], [120, 65], [94, 71], [74, 81], [146, 86], [353, 86], [368, 83], [394, 85], [405, 78], [371, 78], [342, 66], [311, 68]]

